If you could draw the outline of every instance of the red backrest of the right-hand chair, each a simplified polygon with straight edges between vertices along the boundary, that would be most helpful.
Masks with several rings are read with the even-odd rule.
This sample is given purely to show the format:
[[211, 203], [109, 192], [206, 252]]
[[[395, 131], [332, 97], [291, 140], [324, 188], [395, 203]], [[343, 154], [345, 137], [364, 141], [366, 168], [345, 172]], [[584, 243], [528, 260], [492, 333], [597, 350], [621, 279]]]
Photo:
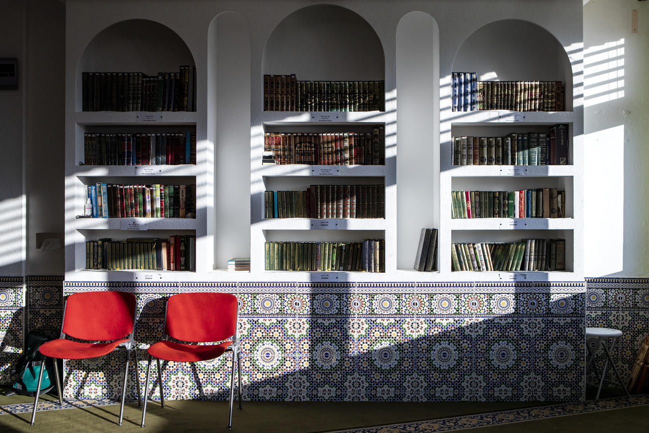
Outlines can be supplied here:
[[178, 293], [167, 301], [165, 333], [194, 343], [223, 341], [236, 332], [237, 297], [230, 293]]

